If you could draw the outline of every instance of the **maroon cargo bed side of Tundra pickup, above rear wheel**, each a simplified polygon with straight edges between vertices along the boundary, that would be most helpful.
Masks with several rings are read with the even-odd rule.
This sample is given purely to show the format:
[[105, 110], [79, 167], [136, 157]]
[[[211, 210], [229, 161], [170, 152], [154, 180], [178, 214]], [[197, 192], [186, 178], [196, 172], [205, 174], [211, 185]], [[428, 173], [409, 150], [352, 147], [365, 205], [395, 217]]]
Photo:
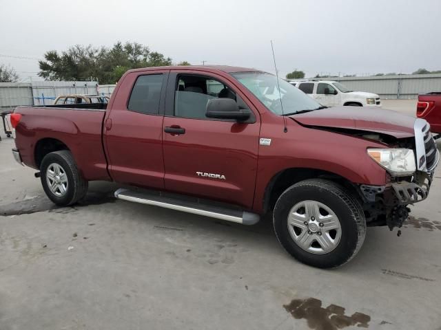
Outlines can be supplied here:
[[106, 107], [105, 103], [17, 107], [14, 112], [21, 113], [23, 124], [17, 126], [16, 144], [23, 163], [39, 168], [47, 153], [40, 144], [49, 139], [72, 152], [85, 179], [110, 179], [102, 142]]

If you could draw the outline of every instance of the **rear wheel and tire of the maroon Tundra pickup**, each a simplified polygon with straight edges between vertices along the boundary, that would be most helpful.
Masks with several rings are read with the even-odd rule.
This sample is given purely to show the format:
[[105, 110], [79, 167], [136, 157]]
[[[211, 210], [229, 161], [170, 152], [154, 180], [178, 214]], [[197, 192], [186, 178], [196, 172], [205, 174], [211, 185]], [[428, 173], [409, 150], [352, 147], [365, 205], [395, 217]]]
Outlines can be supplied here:
[[59, 206], [72, 205], [88, 192], [88, 181], [81, 176], [70, 151], [48, 153], [41, 161], [40, 171], [46, 195]]

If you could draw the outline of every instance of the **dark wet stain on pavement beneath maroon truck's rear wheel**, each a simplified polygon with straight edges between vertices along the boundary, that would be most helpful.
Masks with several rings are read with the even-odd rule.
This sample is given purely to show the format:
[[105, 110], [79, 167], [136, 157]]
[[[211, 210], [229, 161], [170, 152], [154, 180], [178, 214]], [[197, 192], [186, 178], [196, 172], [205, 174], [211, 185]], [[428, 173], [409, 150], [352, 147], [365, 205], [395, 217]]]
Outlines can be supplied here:
[[101, 205], [104, 203], [113, 203], [116, 201], [112, 192], [95, 192], [90, 191], [85, 198], [74, 206], [63, 207], [57, 206], [48, 197], [38, 196], [24, 201], [17, 201], [0, 206], [0, 216], [8, 217], [11, 215], [32, 214], [35, 212], [55, 212], [55, 213], [70, 213], [76, 212], [79, 208], [90, 205]]

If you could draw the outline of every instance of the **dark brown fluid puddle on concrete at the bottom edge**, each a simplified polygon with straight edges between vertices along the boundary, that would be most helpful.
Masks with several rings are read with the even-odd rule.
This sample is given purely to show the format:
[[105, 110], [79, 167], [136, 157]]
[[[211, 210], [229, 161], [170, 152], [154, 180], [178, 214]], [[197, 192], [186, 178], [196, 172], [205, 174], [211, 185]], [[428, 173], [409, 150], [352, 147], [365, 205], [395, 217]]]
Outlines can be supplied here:
[[308, 327], [315, 330], [337, 330], [357, 326], [367, 328], [371, 317], [356, 312], [345, 315], [345, 308], [338, 305], [322, 307], [322, 301], [316, 298], [294, 299], [283, 305], [286, 311], [296, 319], [307, 320]]

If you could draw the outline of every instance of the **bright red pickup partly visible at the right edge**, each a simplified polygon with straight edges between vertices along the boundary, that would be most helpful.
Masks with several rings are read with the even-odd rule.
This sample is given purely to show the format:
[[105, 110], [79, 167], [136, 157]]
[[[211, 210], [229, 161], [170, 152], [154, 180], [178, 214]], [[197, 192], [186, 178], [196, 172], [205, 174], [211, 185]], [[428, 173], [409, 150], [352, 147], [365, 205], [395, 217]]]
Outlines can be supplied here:
[[416, 115], [429, 122], [433, 133], [441, 133], [441, 92], [418, 95]]

